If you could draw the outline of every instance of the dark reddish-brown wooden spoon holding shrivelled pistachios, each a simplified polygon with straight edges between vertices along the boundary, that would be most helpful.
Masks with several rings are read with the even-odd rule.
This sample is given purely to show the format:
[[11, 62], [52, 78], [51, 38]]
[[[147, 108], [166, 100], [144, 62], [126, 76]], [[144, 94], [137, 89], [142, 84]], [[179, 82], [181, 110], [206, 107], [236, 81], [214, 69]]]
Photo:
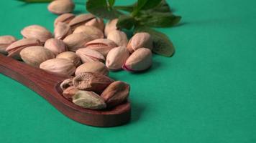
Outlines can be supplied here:
[[82, 124], [114, 127], [130, 120], [129, 102], [113, 109], [92, 110], [78, 107], [65, 99], [61, 94], [60, 83], [67, 79], [67, 76], [43, 71], [2, 54], [0, 54], [0, 72], [34, 90], [67, 117]]

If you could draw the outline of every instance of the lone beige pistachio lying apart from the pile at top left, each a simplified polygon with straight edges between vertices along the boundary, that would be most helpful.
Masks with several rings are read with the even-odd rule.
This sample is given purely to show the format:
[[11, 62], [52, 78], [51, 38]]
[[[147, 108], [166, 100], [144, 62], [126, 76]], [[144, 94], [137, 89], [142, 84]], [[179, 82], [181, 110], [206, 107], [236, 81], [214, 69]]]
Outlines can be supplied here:
[[52, 1], [47, 8], [53, 14], [65, 14], [72, 12], [75, 8], [75, 4], [72, 0], [55, 0]]

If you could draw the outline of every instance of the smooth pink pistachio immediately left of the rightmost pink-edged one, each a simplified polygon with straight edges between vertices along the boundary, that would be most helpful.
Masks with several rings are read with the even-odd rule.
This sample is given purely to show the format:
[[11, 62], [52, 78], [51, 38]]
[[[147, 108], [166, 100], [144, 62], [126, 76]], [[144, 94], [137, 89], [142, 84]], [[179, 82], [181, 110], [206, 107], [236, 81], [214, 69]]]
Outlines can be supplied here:
[[125, 46], [115, 47], [111, 49], [106, 56], [106, 67], [112, 71], [122, 69], [123, 64], [128, 58], [129, 51]]

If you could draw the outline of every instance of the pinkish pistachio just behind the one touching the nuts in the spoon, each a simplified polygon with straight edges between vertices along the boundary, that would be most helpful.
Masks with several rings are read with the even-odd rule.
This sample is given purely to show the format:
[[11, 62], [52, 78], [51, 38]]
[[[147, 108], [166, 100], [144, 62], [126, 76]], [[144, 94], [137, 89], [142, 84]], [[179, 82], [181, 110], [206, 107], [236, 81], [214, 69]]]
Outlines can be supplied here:
[[83, 63], [91, 61], [105, 61], [105, 57], [99, 52], [89, 48], [81, 48], [76, 51], [76, 54], [80, 56]]

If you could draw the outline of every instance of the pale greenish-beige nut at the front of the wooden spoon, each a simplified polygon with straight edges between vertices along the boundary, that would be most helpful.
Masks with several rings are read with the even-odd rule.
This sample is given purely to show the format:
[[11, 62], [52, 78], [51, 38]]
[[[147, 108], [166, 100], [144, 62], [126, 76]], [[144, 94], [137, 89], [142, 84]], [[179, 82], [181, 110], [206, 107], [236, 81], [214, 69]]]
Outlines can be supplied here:
[[106, 104], [98, 94], [94, 92], [79, 91], [72, 97], [73, 103], [87, 109], [104, 109]]

